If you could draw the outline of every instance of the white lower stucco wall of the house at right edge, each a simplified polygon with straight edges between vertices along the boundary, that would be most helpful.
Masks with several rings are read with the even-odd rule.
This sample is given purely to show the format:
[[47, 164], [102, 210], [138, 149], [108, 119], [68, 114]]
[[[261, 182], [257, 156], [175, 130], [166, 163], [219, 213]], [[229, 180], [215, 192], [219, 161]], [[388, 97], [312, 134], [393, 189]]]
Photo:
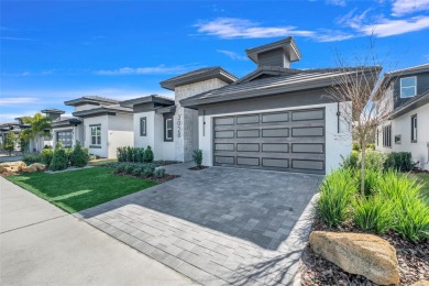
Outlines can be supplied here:
[[[417, 142], [411, 143], [411, 116], [417, 114]], [[383, 127], [392, 123], [392, 147], [383, 146]], [[392, 121], [384, 122], [378, 128], [378, 145], [376, 148], [384, 153], [411, 152], [413, 160], [419, 162], [419, 167], [429, 169], [429, 105], [417, 108]], [[395, 144], [395, 135], [400, 135], [400, 144]]]

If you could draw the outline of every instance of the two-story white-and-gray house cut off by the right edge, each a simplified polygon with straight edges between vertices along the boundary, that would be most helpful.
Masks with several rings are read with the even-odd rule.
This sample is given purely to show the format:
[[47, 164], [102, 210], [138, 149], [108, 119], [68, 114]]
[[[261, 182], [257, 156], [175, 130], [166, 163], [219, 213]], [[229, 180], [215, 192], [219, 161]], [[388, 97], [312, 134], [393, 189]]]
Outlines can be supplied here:
[[376, 130], [376, 150], [411, 152], [418, 167], [429, 169], [429, 64], [395, 70], [388, 80], [392, 114]]

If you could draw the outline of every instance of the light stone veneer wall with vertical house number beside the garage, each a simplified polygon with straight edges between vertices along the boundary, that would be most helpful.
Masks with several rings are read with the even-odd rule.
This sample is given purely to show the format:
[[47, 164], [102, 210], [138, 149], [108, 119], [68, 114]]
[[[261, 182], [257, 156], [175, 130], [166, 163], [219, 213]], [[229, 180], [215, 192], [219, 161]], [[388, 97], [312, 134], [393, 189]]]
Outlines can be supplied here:
[[174, 142], [177, 161], [193, 160], [193, 151], [198, 148], [198, 111], [183, 108], [179, 101], [205, 91], [217, 89], [228, 84], [212, 78], [175, 88], [176, 114], [174, 122]]

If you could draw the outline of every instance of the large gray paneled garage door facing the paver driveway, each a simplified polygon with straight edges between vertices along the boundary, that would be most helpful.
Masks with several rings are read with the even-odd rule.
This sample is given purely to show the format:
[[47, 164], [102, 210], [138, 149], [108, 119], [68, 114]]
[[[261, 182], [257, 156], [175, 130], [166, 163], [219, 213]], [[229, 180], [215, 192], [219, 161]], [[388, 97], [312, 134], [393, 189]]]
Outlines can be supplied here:
[[324, 174], [324, 109], [215, 118], [213, 165]]

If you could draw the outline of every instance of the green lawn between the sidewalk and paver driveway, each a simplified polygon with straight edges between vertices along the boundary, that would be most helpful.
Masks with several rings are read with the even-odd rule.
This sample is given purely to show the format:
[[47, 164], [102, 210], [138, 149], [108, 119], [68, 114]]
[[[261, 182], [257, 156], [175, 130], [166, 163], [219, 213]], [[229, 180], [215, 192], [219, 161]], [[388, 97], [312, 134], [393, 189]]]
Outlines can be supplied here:
[[67, 212], [80, 211], [156, 183], [112, 175], [111, 168], [92, 167], [58, 174], [32, 173], [6, 177]]

